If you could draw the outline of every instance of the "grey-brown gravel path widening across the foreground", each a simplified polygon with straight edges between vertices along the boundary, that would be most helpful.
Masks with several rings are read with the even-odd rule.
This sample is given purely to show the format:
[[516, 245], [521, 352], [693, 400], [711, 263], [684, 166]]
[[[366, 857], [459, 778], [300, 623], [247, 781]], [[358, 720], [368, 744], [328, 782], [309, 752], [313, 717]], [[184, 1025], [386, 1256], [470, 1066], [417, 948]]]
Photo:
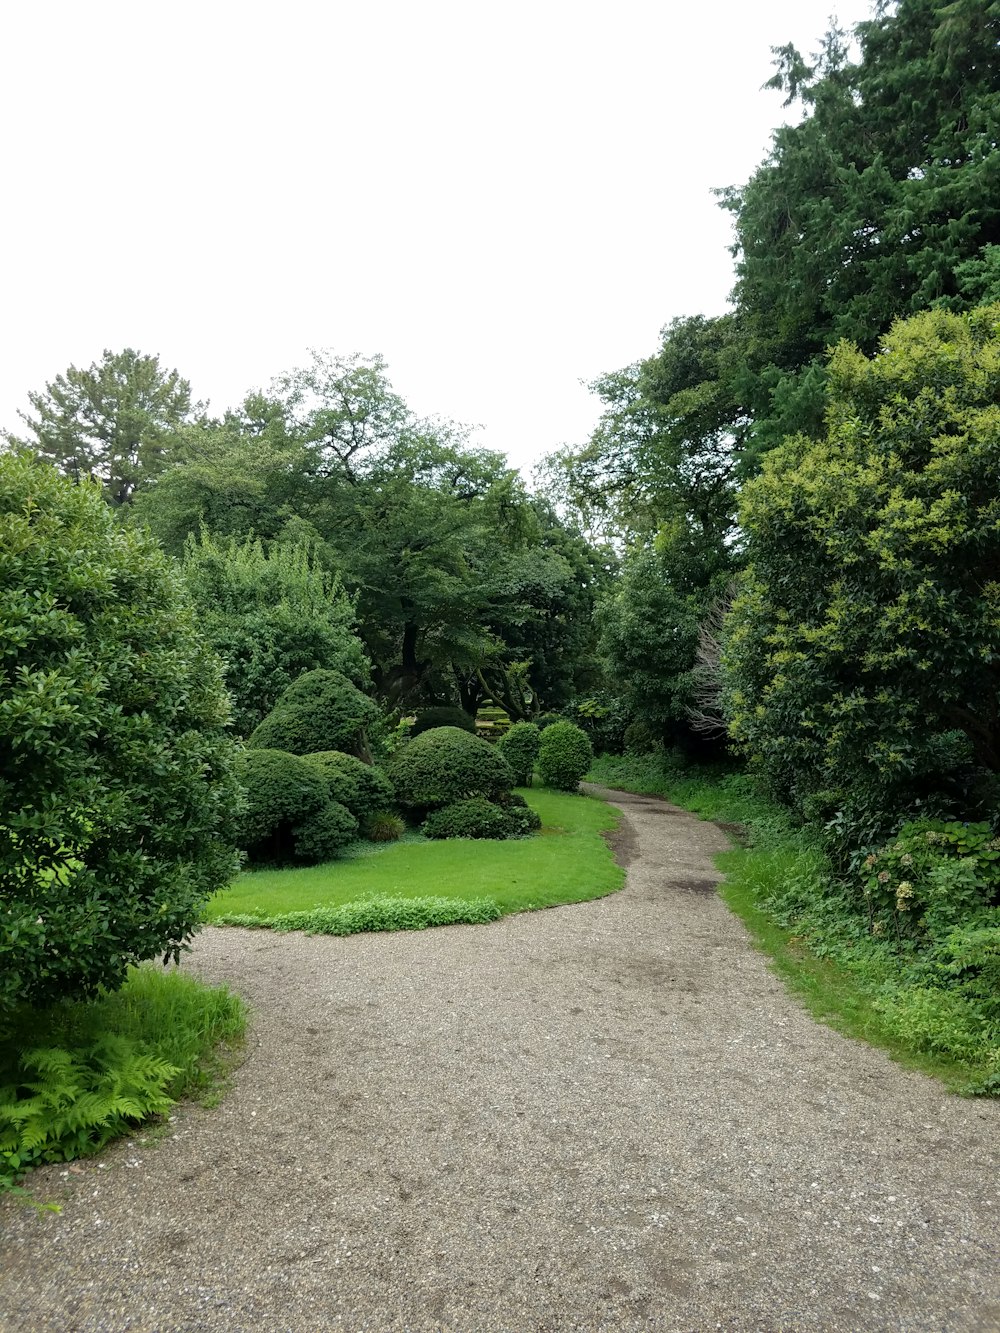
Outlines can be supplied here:
[[212, 1112], [0, 1205], [0, 1329], [1000, 1329], [1000, 1104], [812, 1022], [615, 793], [627, 888], [489, 926], [205, 930], [256, 1009]]

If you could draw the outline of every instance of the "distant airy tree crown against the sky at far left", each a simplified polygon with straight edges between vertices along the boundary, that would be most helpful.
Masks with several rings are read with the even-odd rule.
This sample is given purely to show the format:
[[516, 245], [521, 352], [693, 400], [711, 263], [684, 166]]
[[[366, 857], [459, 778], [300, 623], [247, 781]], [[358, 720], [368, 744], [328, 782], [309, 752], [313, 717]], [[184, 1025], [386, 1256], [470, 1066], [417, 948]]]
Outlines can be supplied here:
[[113, 505], [163, 471], [175, 432], [193, 411], [188, 381], [132, 348], [105, 351], [85, 371], [71, 365], [28, 400], [36, 415], [21, 417], [31, 435], [13, 443], [73, 481], [100, 481]]

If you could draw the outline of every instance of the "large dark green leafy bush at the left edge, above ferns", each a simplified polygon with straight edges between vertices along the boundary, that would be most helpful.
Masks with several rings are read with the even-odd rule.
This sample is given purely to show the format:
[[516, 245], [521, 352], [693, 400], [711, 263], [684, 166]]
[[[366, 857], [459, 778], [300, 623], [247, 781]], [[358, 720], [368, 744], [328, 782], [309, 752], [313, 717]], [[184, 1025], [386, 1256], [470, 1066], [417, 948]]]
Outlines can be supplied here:
[[0, 457], [0, 1028], [176, 956], [235, 870], [219, 661], [92, 485]]

